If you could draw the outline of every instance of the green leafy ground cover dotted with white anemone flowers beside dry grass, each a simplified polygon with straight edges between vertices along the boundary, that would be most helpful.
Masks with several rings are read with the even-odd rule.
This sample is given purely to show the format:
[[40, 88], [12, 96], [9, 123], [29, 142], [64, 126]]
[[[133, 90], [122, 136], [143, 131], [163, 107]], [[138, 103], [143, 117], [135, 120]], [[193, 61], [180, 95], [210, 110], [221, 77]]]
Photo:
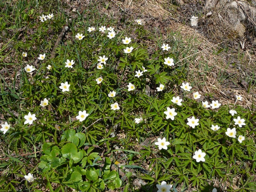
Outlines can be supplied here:
[[[67, 16], [40, 12], [49, 2], [25, 2], [14, 13], [1, 3], [1, 20], [12, 12], [15, 24], [0, 27], [17, 29], [17, 62], [1, 66], [20, 68], [11, 84], [11, 74], [1, 74], [2, 191], [220, 191], [213, 180], [226, 191], [255, 191], [255, 112], [239, 106], [241, 95], [221, 105], [187, 81], [193, 57], [177, 59], [188, 51], [179, 32], [176, 41], [157, 37], [149, 55], [140, 38], [153, 33], [139, 18], [116, 31], [116, 21], [90, 4], [50, 59], [48, 36], [57, 38]], [[36, 31], [22, 42], [24, 26]]]

